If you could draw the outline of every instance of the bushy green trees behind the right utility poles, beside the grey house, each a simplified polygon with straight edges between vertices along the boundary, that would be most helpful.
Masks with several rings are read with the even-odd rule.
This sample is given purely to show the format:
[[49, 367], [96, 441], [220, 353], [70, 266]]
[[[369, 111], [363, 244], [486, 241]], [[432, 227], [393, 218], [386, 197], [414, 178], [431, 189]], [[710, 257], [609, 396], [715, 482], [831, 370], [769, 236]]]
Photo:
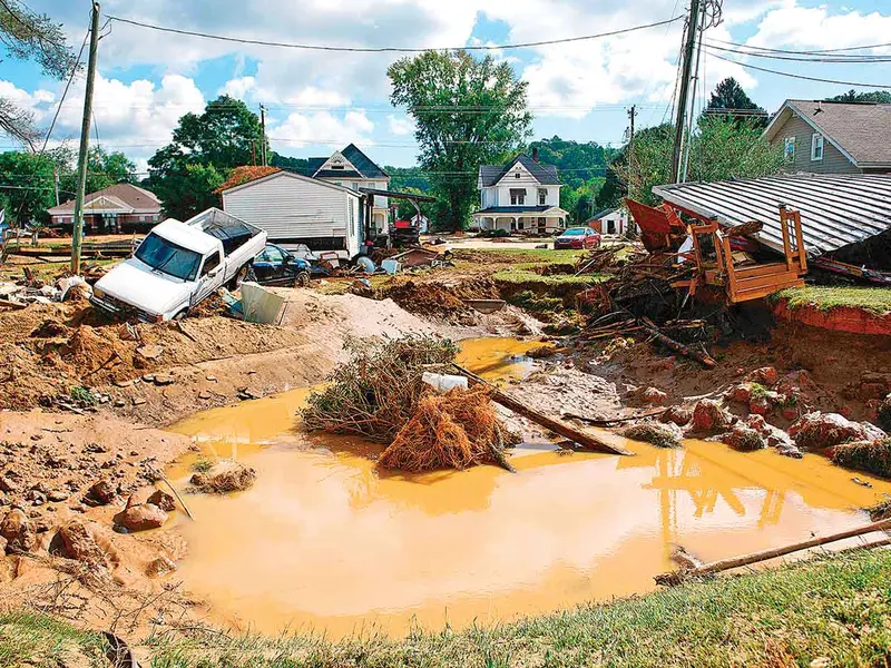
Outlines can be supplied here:
[[[617, 189], [644, 204], [656, 204], [653, 186], [669, 181], [673, 143], [674, 128], [668, 124], [638, 132], [631, 150], [613, 165], [621, 181]], [[691, 181], [756, 178], [776, 174], [783, 165], [782, 146], [767, 144], [761, 128], [726, 116], [701, 117], [689, 150]]]

